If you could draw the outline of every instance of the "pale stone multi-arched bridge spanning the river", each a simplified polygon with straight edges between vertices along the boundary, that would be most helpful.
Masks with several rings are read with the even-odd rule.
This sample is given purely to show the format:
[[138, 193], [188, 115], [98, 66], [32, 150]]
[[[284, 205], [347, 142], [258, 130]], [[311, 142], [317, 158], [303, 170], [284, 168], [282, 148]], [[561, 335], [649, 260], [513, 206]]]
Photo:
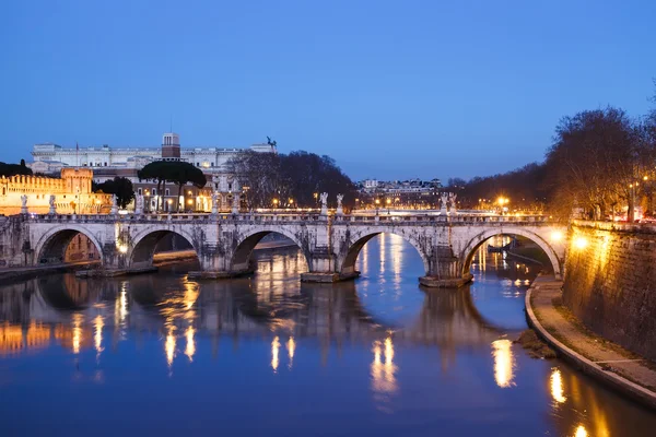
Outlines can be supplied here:
[[306, 282], [337, 282], [359, 275], [362, 247], [382, 233], [409, 241], [423, 260], [421, 284], [457, 287], [471, 280], [477, 248], [497, 235], [519, 235], [549, 257], [557, 277], [565, 255], [566, 226], [546, 215], [319, 215], [289, 214], [21, 214], [0, 223], [3, 264], [38, 265], [62, 260], [79, 233], [98, 248], [106, 275], [153, 268], [157, 243], [169, 234], [184, 237], [200, 261], [195, 279], [221, 279], [251, 273], [255, 246], [270, 233], [293, 240], [307, 261]]

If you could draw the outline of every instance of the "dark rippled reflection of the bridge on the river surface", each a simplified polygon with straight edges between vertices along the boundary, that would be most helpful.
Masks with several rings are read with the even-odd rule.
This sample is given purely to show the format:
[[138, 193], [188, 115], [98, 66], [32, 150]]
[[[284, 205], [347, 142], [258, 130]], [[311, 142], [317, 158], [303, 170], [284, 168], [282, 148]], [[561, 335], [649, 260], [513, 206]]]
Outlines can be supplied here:
[[[62, 280], [63, 277], [63, 280]], [[17, 297], [0, 303], [0, 319], [77, 328], [91, 335], [90, 324], [124, 335], [192, 327], [202, 334], [235, 336], [278, 332], [325, 342], [372, 341], [394, 332], [395, 341], [459, 346], [489, 345], [500, 330], [478, 312], [469, 293], [426, 292], [415, 321], [399, 328], [380, 321], [362, 306], [353, 282], [338, 285], [298, 284], [237, 279], [211, 283], [175, 282], [162, 290], [157, 276], [129, 281], [77, 280], [74, 275], [45, 276], [16, 284]], [[295, 283], [296, 288], [290, 291]], [[159, 284], [159, 285], [156, 285]], [[284, 290], [284, 291], [283, 291]]]

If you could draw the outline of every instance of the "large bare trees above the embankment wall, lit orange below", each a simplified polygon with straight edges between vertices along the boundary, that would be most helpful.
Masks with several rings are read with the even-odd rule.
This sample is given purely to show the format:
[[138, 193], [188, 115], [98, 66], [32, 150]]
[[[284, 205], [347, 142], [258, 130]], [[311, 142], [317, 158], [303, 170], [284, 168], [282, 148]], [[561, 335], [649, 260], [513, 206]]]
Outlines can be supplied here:
[[460, 193], [461, 208], [502, 196], [511, 198], [511, 206], [544, 206], [563, 218], [578, 211], [601, 220], [628, 208], [631, 220], [639, 203], [653, 213], [655, 179], [656, 109], [631, 118], [609, 106], [563, 117], [543, 163], [469, 181], [449, 179], [448, 186]]

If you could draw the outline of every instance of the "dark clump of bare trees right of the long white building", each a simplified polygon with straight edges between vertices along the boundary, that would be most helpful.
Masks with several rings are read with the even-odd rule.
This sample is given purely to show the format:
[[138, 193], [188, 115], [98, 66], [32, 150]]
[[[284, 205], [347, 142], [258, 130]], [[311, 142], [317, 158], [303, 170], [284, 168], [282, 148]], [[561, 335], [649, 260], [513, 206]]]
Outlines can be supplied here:
[[355, 185], [329, 156], [308, 152], [260, 153], [248, 151], [231, 160], [230, 172], [245, 189], [248, 208], [317, 208], [319, 194], [328, 193], [328, 205], [352, 208]]

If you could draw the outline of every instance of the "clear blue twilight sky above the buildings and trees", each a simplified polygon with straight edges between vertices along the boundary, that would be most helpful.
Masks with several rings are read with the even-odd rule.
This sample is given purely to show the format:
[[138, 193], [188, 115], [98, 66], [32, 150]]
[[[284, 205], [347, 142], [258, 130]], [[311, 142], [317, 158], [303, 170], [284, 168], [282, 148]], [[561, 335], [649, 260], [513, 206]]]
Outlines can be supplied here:
[[[656, 1], [0, 3], [0, 161], [34, 143], [328, 154], [353, 178], [505, 172], [559, 119], [646, 113]], [[28, 160], [30, 161], [30, 160]]]

